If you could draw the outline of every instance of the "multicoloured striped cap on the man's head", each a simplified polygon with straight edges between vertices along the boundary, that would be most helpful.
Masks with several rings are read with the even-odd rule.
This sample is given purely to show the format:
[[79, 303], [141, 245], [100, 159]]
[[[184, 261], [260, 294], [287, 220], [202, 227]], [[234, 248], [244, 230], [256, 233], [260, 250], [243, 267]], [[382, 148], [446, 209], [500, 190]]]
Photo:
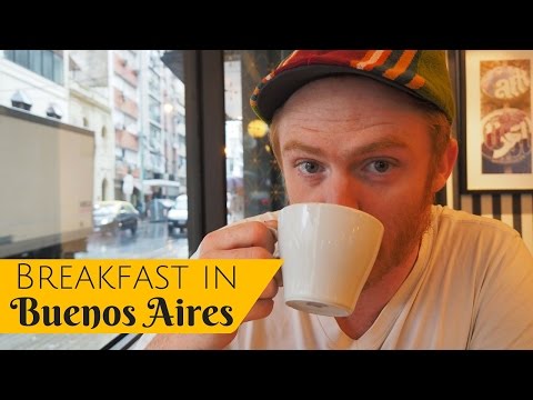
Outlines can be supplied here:
[[335, 74], [361, 74], [388, 83], [455, 116], [450, 74], [443, 50], [295, 50], [263, 78], [250, 98], [253, 111], [266, 123], [305, 83]]

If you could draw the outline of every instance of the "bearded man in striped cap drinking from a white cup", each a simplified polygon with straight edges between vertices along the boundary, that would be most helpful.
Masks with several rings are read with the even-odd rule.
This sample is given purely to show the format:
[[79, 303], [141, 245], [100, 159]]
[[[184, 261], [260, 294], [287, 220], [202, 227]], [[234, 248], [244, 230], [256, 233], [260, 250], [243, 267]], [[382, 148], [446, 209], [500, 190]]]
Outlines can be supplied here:
[[[301, 50], [252, 108], [291, 203], [363, 210], [385, 231], [349, 317], [286, 307], [272, 280], [232, 334], [158, 334], [148, 349], [531, 349], [533, 258], [504, 223], [432, 206], [457, 157], [443, 51]], [[194, 257], [272, 258], [276, 214], [209, 233]]]

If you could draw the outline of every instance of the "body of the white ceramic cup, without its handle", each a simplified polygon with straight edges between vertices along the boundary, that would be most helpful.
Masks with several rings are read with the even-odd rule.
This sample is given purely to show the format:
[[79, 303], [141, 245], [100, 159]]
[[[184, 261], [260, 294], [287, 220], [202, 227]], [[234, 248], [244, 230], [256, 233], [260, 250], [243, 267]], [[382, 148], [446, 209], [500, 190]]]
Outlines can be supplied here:
[[372, 270], [383, 230], [375, 217], [344, 206], [283, 208], [278, 246], [285, 303], [322, 316], [349, 316]]

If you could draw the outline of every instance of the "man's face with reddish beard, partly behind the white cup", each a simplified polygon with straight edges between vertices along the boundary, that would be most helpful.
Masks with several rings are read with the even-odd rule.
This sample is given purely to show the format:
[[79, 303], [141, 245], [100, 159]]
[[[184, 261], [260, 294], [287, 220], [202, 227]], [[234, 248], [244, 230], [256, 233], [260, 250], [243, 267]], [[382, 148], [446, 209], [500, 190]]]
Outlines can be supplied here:
[[328, 78], [294, 93], [278, 117], [291, 203], [365, 211], [385, 227], [375, 268], [419, 246], [432, 202], [429, 123], [409, 94], [365, 78]]

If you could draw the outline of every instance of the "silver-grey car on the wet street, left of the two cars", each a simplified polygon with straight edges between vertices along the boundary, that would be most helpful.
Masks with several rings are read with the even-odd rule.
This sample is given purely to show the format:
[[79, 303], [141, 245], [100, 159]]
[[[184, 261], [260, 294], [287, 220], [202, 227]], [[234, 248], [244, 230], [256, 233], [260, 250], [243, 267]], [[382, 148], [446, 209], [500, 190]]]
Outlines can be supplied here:
[[117, 234], [131, 230], [135, 234], [140, 214], [132, 203], [122, 200], [97, 201], [92, 211], [94, 232]]

